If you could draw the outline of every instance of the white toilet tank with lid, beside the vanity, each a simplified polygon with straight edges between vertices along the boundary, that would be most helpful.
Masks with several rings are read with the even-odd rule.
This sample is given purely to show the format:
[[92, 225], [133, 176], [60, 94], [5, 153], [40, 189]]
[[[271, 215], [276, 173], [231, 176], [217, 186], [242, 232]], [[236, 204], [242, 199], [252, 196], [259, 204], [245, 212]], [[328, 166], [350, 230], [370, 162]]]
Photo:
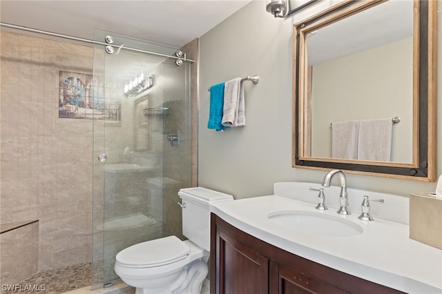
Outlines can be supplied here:
[[210, 251], [210, 209], [214, 202], [231, 201], [233, 196], [202, 187], [182, 188], [182, 234]]

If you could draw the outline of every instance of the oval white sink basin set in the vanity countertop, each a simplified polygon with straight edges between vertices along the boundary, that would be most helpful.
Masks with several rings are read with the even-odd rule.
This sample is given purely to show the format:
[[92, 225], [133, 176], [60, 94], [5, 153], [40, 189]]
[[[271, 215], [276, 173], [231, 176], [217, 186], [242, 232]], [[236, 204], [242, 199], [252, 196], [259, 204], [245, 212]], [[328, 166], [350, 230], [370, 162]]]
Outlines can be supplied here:
[[363, 228], [343, 217], [310, 213], [303, 210], [280, 210], [269, 213], [271, 222], [296, 232], [334, 237], [349, 237], [363, 233]]

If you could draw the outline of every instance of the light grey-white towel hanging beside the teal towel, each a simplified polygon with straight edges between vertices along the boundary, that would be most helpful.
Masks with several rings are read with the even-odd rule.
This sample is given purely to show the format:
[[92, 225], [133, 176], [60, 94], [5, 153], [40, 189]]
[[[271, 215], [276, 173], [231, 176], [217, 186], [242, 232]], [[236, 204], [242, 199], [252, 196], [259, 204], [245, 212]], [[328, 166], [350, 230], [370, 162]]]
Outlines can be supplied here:
[[223, 126], [245, 126], [244, 88], [240, 77], [224, 84]]

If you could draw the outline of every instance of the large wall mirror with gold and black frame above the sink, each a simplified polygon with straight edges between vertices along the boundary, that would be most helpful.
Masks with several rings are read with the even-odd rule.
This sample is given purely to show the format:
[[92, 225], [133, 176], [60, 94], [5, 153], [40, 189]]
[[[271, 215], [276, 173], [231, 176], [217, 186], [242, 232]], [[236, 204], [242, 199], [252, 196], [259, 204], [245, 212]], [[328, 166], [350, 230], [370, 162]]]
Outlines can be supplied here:
[[[434, 182], [436, 16], [436, 1], [347, 0], [294, 25], [293, 167]], [[335, 122], [394, 117], [387, 159], [334, 157]]]

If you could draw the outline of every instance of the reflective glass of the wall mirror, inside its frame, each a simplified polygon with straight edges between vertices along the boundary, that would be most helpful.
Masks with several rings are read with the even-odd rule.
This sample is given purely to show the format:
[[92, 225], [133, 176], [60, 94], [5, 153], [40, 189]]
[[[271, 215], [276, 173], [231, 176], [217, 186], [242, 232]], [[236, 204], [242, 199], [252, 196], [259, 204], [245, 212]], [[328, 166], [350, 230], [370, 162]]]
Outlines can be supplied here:
[[309, 32], [312, 157], [412, 162], [412, 19], [412, 1], [388, 1]]

